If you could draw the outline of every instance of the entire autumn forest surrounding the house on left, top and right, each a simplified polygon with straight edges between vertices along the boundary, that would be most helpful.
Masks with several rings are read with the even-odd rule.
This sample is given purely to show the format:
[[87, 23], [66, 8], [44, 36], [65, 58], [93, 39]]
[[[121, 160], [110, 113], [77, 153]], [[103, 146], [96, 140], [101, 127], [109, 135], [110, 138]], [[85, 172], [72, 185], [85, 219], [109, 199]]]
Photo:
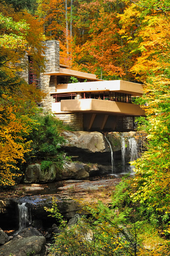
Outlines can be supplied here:
[[[55, 134], [55, 142], [61, 143], [62, 124], [54, 132], [51, 116], [40, 122], [37, 102], [43, 92], [16, 72], [28, 66], [21, 61], [27, 53], [38, 75], [44, 67], [41, 42], [59, 40], [60, 63], [105, 80], [143, 84], [139, 103], [147, 118], [140, 120], [140, 129], [148, 134], [147, 151], [133, 163], [136, 175], [122, 186], [126, 196], [114, 207], [125, 212], [130, 206], [131, 215], [140, 213], [165, 238], [160, 255], [168, 255], [170, 0], [0, 0], [0, 9], [0, 186], [14, 185], [20, 166], [35, 157], [38, 147], [40, 157], [41, 152], [51, 157], [58, 152], [49, 145]], [[37, 144], [34, 134], [39, 130], [51, 141]]]

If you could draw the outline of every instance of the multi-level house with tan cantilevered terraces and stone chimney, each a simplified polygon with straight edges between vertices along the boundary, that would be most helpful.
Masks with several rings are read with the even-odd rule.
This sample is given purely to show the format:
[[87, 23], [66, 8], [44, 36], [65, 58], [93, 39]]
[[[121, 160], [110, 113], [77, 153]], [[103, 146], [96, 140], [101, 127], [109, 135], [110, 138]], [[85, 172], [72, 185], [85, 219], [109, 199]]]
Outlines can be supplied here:
[[[77, 130], [129, 131], [135, 117], [144, 116], [133, 97], [142, 95], [142, 85], [127, 81], [102, 81], [96, 75], [78, 72], [59, 64], [59, 42], [45, 42], [45, 72], [39, 86], [46, 92], [41, 106]], [[78, 83], [70, 83], [71, 76]], [[24, 74], [26, 78], [26, 74]], [[28, 72], [28, 82], [33, 74]]]

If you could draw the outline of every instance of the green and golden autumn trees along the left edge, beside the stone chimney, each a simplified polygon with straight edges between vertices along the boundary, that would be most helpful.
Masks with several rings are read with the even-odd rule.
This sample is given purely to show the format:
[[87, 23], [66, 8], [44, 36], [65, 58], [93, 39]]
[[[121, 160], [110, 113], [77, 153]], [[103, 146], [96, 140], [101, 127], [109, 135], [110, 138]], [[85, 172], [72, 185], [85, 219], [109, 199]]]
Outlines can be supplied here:
[[[0, 5], [4, 14], [7, 7]], [[42, 63], [42, 33], [37, 30], [30, 32], [31, 15], [28, 23], [20, 20], [23, 13], [12, 12], [12, 17], [0, 14], [0, 186], [14, 185], [18, 176], [17, 163], [25, 161], [31, 141], [26, 140], [28, 134], [36, 124], [31, 116], [37, 111], [36, 101], [40, 101], [42, 93], [35, 84], [29, 85], [17, 76], [16, 71], [24, 68], [22, 63], [26, 52], [33, 55], [37, 63]], [[32, 20], [35, 19], [32, 17]], [[36, 24], [36, 22], [34, 22]], [[36, 25], [37, 26], [37, 25]], [[30, 36], [30, 37], [29, 37]], [[34, 38], [31, 38], [34, 37]], [[17, 64], [16, 64], [17, 63]], [[43, 63], [42, 63], [43, 66]], [[40, 69], [37, 69], [40, 72]]]

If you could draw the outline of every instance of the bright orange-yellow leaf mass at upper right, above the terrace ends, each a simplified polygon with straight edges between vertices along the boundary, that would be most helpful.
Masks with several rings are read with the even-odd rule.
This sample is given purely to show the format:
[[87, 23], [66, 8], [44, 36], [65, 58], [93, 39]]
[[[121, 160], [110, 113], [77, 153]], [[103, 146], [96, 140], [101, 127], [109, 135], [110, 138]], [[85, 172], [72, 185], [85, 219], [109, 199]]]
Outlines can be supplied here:
[[131, 71], [144, 75], [144, 80], [146, 78], [145, 75], [148, 75], [147, 72], [150, 72], [150, 70], [160, 72], [162, 66], [166, 65], [164, 61], [169, 58], [169, 39], [167, 37], [169, 19], [163, 14], [147, 16], [142, 20], [140, 26], [142, 29], [136, 39], [140, 42], [139, 49], [143, 48], [145, 50], [141, 51], [142, 54], [137, 58]]

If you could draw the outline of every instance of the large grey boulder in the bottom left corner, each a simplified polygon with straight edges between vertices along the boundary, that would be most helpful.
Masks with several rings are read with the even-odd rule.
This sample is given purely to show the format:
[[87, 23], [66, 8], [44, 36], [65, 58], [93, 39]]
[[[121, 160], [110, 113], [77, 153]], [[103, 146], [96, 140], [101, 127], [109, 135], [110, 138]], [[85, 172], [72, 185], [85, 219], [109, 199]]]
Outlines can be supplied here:
[[45, 241], [44, 236], [13, 239], [0, 247], [0, 256], [44, 256]]

